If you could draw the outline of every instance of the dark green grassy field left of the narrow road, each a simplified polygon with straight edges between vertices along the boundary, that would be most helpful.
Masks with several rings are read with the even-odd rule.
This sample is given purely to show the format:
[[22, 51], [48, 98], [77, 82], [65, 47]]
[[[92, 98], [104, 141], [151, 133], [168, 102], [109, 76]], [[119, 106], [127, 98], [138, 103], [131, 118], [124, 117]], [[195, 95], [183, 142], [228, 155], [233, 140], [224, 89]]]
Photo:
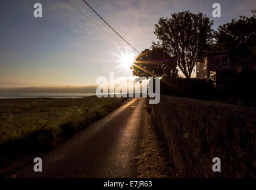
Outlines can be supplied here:
[[54, 148], [117, 109], [123, 98], [0, 100], [0, 167], [21, 154]]

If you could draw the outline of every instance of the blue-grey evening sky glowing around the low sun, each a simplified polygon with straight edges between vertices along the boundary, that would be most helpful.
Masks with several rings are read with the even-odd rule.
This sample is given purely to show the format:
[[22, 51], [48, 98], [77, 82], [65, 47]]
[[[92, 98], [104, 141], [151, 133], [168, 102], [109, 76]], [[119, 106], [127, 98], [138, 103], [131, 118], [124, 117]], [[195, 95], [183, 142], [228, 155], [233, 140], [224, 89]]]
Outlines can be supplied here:
[[[91, 85], [96, 78], [129, 77], [120, 56], [135, 53], [82, 0], [0, 1], [0, 87]], [[42, 18], [35, 18], [35, 3]], [[133, 47], [141, 52], [157, 42], [154, 24], [160, 17], [189, 10], [214, 21], [213, 29], [239, 15], [251, 15], [255, 0], [87, 0]], [[212, 5], [221, 5], [221, 17]], [[103, 30], [104, 31], [103, 31]], [[111, 37], [110, 37], [111, 36]], [[114, 39], [113, 39], [114, 38]], [[195, 73], [192, 74], [195, 77]]]

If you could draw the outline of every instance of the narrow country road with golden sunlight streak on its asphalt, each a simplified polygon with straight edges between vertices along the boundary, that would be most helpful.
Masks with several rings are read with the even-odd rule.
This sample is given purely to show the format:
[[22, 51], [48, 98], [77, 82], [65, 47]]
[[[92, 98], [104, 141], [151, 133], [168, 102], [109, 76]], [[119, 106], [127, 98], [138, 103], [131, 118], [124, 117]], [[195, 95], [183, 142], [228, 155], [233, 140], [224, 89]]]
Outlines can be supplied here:
[[136, 178], [147, 125], [146, 101], [134, 98], [42, 157], [42, 172], [29, 163], [16, 178]]

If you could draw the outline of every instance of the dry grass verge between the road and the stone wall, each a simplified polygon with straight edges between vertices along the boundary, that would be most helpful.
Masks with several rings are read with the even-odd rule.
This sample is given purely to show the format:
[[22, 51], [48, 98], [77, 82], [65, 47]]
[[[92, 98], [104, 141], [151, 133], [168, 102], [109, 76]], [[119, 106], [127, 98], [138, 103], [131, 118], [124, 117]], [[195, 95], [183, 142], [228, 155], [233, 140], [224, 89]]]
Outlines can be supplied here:
[[168, 145], [154, 123], [149, 106], [148, 113], [148, 122], [143, 128], [141, 154], [135, 158], [138, 163], [138, 178], [178, 178]]

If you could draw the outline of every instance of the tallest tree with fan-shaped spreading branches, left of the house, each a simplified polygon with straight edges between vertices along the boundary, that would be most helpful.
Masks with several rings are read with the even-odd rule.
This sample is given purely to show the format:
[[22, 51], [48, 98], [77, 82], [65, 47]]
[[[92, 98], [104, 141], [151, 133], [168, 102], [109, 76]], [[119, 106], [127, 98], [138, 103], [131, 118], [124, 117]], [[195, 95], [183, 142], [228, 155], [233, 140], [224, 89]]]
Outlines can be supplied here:
[[207, 44], [212, 42], [213, 21], [202, 15], [183, 11], [160, 18], [155, 24], [155, 34], [160, 40], [154, 43], [174, 56], [186, 78], [191, 77], [193, 67], [202, 58]]

